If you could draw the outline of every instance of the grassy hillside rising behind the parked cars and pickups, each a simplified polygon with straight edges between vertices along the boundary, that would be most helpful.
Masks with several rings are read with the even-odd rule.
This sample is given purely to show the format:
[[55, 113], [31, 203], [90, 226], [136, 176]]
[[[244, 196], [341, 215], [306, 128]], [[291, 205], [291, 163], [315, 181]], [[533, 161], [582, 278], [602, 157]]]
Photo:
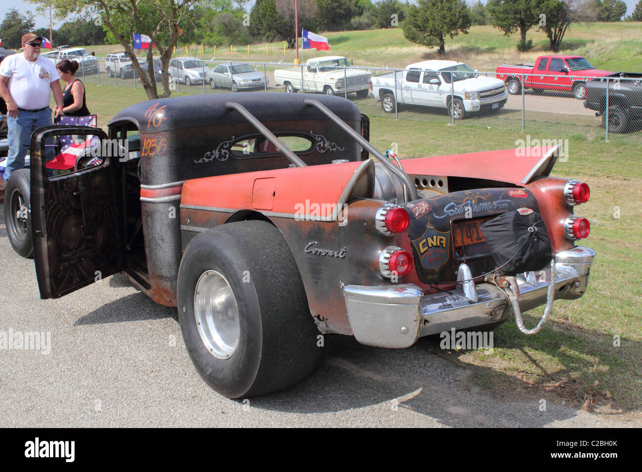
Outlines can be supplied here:
[[[460, 60], [480, 71], [494, 71], [499, 64], [534, 62], [539, 55], [549, 53], [548, 39], [543, 33], [531, 30], [528, 39], [534, 42], [534, 49], [519, 53], [515, 47], [517, 37], [505, 37], [492, 26], [473, 26], [467, 35], [458, 35], [446, 40], [446, 55], [439, 56], [437, 51], [413, 44], [403, 36], [401, 28], [390, 30], [335, 31], [323, 33], [329, 40], [331, 51], [306, 50], [304, 60], [320, 55], [345, 55], [361, 66], [388, 66], [403, 68], [406, 65], [435, 58]], [[185, 53], [184, 44], [179, 45], [180, 55]], [[265, 53], [265, 43], [250, 46], [234, 45], [234, 53], [229, 46], [205, 48], [202, 58], [216, 57], [217, 60], [248, 60], [250, 62], [291, 62], [295, 57], [293, 50], [283, 54], [283, 42], [269, 44], [270, 52]], [[88, 46], [96, 55], [121, 51], [119, 45]], [[593, 66], [612, 71], [637, 71], [642, 65], [642, 22], [618, 23], [578, 23], [571, 24], [562, 43], [562, 53], [586, 56]], [[188, 46], [190, 55], [196, 46]]]

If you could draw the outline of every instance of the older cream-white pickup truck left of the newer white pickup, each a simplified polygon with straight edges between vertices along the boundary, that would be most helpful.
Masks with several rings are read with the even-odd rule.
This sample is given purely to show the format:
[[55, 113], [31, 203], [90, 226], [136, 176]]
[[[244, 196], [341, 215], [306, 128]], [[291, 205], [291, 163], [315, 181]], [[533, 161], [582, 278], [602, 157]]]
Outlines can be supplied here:
[[[304, 66], [277, 69], [274, 71], [276, 85], [284, 85], [286, 92], [324, 93], [326, 95], [343, 95], [356, 92], [360, 98], [365, 98], [370, 92], [372, 74], [365, 71], [345, 69], [350, 67], [348, 60], [342, 56], [324, 56], [308, 59]], [[301, 85], [303, 80], [303, 85]], [[501, 80], [499, 81], [501, 82]]]

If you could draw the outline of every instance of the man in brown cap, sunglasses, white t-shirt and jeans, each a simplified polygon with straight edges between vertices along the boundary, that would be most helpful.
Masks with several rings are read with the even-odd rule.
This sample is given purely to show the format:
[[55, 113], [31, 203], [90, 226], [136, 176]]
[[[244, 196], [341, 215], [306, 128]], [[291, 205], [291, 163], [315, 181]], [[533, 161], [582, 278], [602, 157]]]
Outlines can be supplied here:
[[35, 33], [22, 35], [22, 54], [4, 58], [0, 63], [0, 96], [6, 101], [9, 154], [4, 180], [24, 168], [31, 132], [51, 126], [49, 101], [56, 101], [56, 116], [62, 113], [62, 89], [56, 65], [40, 57], [42, 37]]

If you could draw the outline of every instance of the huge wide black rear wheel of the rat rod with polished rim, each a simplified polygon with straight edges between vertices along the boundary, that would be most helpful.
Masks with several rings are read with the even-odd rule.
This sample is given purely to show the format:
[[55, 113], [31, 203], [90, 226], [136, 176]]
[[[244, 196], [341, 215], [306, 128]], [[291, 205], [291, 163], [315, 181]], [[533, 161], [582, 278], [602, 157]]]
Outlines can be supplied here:
[[177, 301], [187, 353], [228, 398], [292, 387], [322, 359], [299, 269], [268, 222], [228, 223], [196, 236], [180, 263]]

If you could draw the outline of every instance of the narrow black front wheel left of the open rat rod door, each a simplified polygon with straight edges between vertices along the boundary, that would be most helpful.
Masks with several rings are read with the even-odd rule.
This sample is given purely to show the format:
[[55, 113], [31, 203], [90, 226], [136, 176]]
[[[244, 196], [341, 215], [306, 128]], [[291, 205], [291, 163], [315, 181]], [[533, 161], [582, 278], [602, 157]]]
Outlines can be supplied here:
[[23, 258], [33, 257], [30, 198], [29, 170], [13, 171], [4, 189], [4, 225], [13, 250]]

